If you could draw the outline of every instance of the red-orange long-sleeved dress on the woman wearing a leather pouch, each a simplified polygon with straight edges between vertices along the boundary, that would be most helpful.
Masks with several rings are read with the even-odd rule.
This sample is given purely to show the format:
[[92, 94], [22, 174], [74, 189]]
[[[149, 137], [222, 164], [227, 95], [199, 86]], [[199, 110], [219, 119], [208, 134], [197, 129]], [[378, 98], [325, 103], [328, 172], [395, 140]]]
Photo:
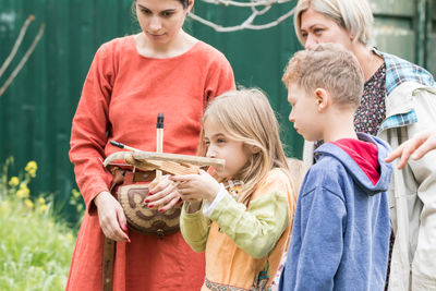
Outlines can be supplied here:
[[[93, 201], [108, 191], [111, 174], [101, 160], [120, 150], [118, 141], [156, 150], [156, 118], [165, 113], [164, 151], [195, 155], [207, 102], [234, 89], [222, 53], [198, 41], [174, 58], [137, 53], [134, 36], [102, 45], [92, 63], [75, 113], [70, 159], [86, 213], [73, 253], [66, 290], [101, 290], [102, 242]], [[158, 239], [129, 230], [131, 243], [117, 243], [113, 290], [199, 290], [203, 254], [191, 251], [180, 232]]]

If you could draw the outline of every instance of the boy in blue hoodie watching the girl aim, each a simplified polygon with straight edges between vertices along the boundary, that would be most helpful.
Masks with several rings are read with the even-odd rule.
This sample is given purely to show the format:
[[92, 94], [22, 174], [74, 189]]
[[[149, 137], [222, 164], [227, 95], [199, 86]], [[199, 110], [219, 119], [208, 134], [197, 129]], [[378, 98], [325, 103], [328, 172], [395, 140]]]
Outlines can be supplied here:
[[296, 52], [282, 81], [294, 129], [325, 143], [300, 191], [279, 290], [384, 290], [392, 168], [385, 142], [354, 131], [360, 64], [340, 45], [322, 44]]

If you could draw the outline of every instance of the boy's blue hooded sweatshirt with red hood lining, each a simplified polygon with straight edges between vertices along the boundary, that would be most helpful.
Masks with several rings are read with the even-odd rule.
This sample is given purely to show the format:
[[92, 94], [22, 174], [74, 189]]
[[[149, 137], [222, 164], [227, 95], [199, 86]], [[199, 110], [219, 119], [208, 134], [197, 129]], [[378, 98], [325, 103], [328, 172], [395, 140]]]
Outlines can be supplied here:
[[379, 179], [374, 184], [338, 145], [326, 143], [315, 150], [316, 163], [298, 199], [280, 291], [384, 290], [390, 237], [386, 191], [392, 173], [384, 159], [389, 146], [371, 135], [358, 136], [377, 146]]

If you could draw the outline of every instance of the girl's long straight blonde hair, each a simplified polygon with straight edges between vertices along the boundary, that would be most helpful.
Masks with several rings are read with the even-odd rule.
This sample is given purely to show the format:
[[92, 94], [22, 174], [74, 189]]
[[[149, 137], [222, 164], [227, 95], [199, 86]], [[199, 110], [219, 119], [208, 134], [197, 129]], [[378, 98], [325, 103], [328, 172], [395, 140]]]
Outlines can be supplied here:
[[[229, 138], [259, 149], [239, 172], [244, 182], [240, 202], [249, 204], [255, 187], [272, 168], [283, 169], [289, 175], [277, 119], [259, 89], [240, 89], [220, 95], [207, 107], [203, 124], [206, 121], [221, 126]], [[203, 156], [207, 151], [204, 136], [202, 129], [198, 154]]]

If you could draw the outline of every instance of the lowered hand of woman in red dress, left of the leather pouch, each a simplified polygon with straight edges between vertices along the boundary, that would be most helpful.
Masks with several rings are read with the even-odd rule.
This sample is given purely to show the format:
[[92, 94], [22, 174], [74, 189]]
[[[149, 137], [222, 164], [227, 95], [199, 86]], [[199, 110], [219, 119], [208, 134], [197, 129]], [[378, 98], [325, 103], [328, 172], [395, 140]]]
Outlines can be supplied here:
[[94, 203], [97, 206], [98, 220], [105, 237], [117, 242], [130, 242], [126, 219], [120, 203], [109, 192], [100, 192]]

